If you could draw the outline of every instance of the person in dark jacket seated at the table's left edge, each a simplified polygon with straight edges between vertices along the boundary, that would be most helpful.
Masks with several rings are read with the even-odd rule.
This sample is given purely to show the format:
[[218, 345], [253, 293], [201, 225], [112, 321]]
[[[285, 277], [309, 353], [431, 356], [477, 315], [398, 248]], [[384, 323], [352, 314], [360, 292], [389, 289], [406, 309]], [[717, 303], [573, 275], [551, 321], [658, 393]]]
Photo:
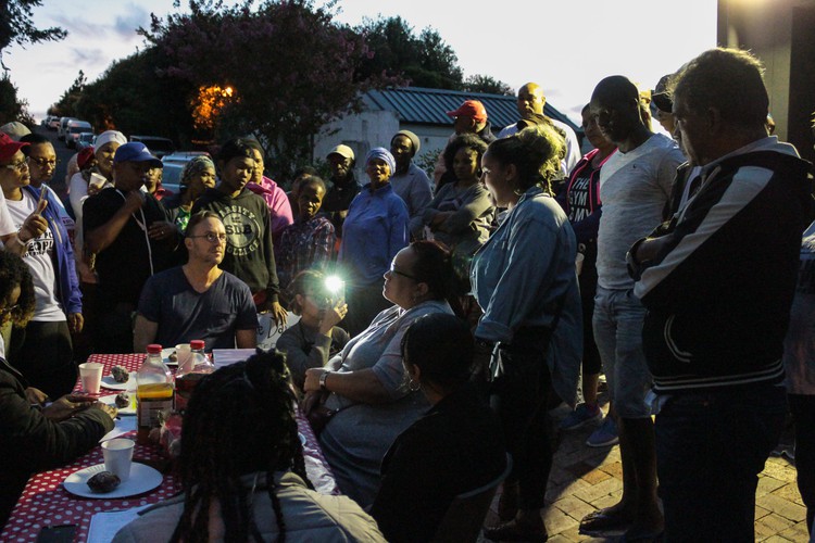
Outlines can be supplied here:
[[[0, 251], [0, 325], [25, 326], [34, 313], [28, 267]], [[67, 464], [113, 429], [116, 409], [84, 396], [67, 395], [45, 404], [46, 394], [0, 357], [0, 526], [5, 523], [28, 477]]]

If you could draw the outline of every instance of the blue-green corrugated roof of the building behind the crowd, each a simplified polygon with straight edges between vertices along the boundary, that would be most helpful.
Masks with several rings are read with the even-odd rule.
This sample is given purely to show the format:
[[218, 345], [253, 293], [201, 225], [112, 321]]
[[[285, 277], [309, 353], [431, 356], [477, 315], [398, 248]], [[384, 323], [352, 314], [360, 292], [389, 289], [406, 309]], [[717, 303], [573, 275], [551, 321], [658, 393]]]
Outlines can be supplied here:
[[[369, 90], [363, 101], [372, 110], [396, 111], [402, 123], [416, 125], [452, 125], [448, 111], [457, 109], [465, 100], [478, 100], [487, 109], [492, 130], [498, 130], [518, 121], [515, 97], [464, 92], [460, 90], [428, 89], [424, 87], [401, 87]], [[580, 127], [566, 115], [547, 102], [543, 113], [549, 117], [566, 123], [575, 131]]]

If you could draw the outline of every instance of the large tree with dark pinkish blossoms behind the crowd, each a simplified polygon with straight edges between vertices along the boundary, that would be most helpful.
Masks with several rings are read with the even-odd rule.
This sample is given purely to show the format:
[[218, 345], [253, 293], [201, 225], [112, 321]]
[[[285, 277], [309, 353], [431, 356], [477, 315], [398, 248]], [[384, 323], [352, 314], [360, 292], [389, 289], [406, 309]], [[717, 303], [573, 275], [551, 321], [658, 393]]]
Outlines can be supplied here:
[[369, 51], [365, 40], [333, 21], [333, 3], [266, 0], [225, 7], [189, 0], [188, 14], [153, 17], [140, 33], [165, 55], [160, 71], [195, 89], [230, 87], [214, 119], [220, 140], [254, 134], [271, 151], [271, 169], [288, 174], [311, 160], [311, 138], [329, 121], [359, 111], [361, 92], [391, 83], [354, 78]]

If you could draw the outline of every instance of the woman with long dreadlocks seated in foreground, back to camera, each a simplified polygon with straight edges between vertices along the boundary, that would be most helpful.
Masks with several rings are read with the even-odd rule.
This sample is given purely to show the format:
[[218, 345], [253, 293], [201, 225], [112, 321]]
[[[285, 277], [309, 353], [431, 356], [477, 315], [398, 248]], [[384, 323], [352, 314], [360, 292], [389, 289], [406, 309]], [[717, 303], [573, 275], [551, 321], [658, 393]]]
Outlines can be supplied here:
[[142, 512], [115, 542], [374, 541], [376, 522], [305, 476], [285, 357], [259, 353], [200, 381], [181, 431], [184, 493]]

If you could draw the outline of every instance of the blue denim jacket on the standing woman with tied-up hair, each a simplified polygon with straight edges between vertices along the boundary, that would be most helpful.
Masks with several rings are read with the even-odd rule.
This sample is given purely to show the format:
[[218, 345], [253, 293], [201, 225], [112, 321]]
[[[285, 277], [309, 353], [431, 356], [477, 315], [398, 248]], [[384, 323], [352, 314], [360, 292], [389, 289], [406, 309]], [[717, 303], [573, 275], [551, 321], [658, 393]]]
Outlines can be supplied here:
[[568, 217], [539, 187], [527, 190], [471, 268], [484, 310], [476, 337], [512, 342], [522, 326], [551, 326], [575, 276], [575, 233]]

